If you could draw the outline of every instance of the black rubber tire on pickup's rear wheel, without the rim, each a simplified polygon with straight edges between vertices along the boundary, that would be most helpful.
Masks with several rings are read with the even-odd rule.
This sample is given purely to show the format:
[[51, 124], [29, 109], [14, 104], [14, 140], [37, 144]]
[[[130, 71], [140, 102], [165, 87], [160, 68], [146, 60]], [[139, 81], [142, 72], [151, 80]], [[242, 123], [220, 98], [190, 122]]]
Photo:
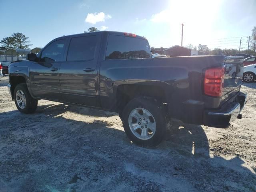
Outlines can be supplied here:
[[[129, 115], [136, 108], [144, 108], [150, 112], [156, 122], [156, 131], [147, 140], [140, 139], [135, 136], [131, 131], [129, 126]], [[165, 106], [157, 102], [153, 98], [140, 97], [131, 100], [124, 108], [122, 113], [122, 122], [124, 126], [124, 131], [133, 143], [143, 146], [143, 147], [154, 147], [160, 144], [160, 142], [165, 138], [166, 131], [170, 125], [167, 118], [167, 112]], [[147, 129], [148, 130], [148, 129]], [[147, 133], [148, 134], [148, 133]]]

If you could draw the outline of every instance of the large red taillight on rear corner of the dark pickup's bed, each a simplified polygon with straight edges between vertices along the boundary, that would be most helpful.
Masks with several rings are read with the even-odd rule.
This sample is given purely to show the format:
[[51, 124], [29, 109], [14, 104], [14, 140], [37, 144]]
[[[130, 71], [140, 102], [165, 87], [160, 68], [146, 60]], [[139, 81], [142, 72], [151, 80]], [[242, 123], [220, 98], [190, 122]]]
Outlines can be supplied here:
[[204, 94], [220, 97], [223, 94], [225, 68], [210, 68], [204, 72]]

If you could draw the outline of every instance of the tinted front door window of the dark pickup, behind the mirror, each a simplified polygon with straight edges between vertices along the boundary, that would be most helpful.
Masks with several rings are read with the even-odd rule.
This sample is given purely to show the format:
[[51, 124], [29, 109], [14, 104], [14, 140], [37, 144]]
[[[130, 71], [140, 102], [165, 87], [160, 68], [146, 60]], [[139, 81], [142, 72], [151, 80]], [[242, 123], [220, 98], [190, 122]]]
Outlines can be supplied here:
[[57, 40], [49, 44], [41, 54], [41, 60], [46, 62], [63, 61], [66, 39]]

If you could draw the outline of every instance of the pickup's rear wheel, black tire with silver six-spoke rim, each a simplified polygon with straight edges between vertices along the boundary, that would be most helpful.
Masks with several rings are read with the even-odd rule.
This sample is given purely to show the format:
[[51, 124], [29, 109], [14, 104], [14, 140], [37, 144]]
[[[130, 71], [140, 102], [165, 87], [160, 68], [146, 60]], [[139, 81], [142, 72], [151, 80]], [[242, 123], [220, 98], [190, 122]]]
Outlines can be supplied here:
[[164, 139], [168, 122], [162, 103], [153, 98], [131, 100], [122, 113], [124, 130], [135, 144], [153, 147]]

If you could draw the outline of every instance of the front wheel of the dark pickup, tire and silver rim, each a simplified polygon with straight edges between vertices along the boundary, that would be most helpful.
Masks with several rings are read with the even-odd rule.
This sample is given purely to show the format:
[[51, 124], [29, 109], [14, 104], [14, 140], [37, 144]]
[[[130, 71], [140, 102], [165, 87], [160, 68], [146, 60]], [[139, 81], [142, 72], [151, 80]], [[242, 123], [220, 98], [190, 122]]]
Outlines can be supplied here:
[[14, 89], [14, 102], [22, 113], [33, 113], [37, 108], [37, 100], [28, 92], [26, 83], [18, 84]]

